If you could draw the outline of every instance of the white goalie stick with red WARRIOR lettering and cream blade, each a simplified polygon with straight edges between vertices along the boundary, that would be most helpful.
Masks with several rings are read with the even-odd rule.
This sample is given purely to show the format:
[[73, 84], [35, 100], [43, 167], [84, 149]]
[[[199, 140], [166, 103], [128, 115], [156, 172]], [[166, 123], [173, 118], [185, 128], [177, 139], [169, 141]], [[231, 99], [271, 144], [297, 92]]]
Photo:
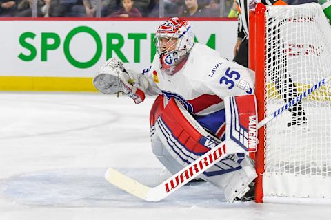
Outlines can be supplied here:
[[[274, 113], [265, 117], [263, 120], [261, 120], [261, 122], [259, 122], [257, 129], [265, 126], [265, 124], [276, 118], [281, 113], [287, 111], [289, 107], [293, 106], [297, 102], [300, 102], [303, 98], [310, 96], [312, 92], [325, 85], [325, 83], [328, 83], [330, 79], [331, 76], [328, 76], [328, 78], [321, 80], [319, 83], [310, 87], [310, 89], [303, 91], [303, 93], [297, 96], [297, 98], [292, 99], [290, 102], [283, 105], [283, 107], [277, 109], [277, 111], [274, 111]], [[105, 173], [105, 177], [108, 182], [114, 186], [117, 186], [118, 188], [121, 188], [122, 190], [125, 190], [131, 195], [134, 195], [135, 197], [139, 197], [145, 201], [160, 201], [161, 199], [168, 197], [168, 195], [171, 195], [172, 192], [175, 192], [192, 179], [197, 178], [201, 173], [214, 166], [214, 164], [219, 162], [221, 159], [233, 153], [243, 153], [242, 151], [243, 148], [241, 148], [241, 152], [228, 152], [225, 146], [225, 142], [221, 142], [221, 144], [215, 146], [210, 151], [196, 159], [194, 162], [188, 166], [185, 166], [185, 168], [180, 170], [178, 173], [172, 175], [172, 177], [169, 177], [163, 181], [163, 183], [155, 187], [145, 186], [138, 181], [135, 181], [134, 179], [131, 179], [122, 173], [119, 173], [113, 168], [108, 168]]]

